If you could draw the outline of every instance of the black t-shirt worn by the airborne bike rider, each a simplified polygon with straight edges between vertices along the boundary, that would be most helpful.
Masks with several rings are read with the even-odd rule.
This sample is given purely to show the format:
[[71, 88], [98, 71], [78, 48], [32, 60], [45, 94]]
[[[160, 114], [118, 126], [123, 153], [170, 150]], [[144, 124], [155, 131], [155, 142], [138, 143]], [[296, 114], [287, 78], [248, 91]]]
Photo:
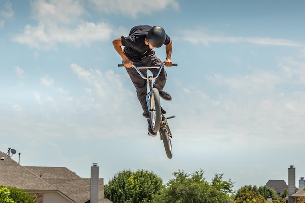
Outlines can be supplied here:
[[[148, 31], [152, 28], [149, 25], [138, 25], [130, 30], [129, 36], [122, 36], [122, 44], [124, 46], [124, 53], [129, 59], [141, 59], [151, 51], [144, 40]], [[164, 44], [170, 43], [170, 37], [166, 35]]]

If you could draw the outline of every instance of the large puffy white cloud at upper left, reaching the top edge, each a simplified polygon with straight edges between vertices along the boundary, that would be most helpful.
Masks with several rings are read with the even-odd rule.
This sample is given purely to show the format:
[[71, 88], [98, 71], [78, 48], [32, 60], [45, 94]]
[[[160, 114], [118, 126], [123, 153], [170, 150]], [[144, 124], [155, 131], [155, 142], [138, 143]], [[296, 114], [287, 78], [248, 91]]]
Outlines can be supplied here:
[[80, 17], [84, 12], [77, 0], [35, 0], [32, 18], [38, 25], [26, 25], [12, 40], [42, 50], [54, 49], [57, 43], [80, 47], [108, 40], [110, 25], [83, 21]]

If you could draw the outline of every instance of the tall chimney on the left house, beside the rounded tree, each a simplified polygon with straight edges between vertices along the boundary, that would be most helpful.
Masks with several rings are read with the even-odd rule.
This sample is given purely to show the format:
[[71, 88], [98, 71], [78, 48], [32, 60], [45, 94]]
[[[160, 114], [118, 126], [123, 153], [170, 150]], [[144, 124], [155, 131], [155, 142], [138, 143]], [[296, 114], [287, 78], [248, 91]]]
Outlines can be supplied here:
[[91, 166], [90, 203], [98, 203], [99, 167], [97, 163]]

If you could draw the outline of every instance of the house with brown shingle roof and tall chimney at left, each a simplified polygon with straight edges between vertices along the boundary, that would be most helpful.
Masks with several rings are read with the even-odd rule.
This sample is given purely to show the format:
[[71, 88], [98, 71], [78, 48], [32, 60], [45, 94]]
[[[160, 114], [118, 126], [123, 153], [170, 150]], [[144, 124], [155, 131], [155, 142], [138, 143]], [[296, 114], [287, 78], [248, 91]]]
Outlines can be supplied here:
[[35, 194], [37, 203], [112, 203], [104, 198], [104, 180], [99, 167], [91, 167], [91, 178], [81, 178], [65, 167], [21, 166], [0, 151], [0, 185]]

